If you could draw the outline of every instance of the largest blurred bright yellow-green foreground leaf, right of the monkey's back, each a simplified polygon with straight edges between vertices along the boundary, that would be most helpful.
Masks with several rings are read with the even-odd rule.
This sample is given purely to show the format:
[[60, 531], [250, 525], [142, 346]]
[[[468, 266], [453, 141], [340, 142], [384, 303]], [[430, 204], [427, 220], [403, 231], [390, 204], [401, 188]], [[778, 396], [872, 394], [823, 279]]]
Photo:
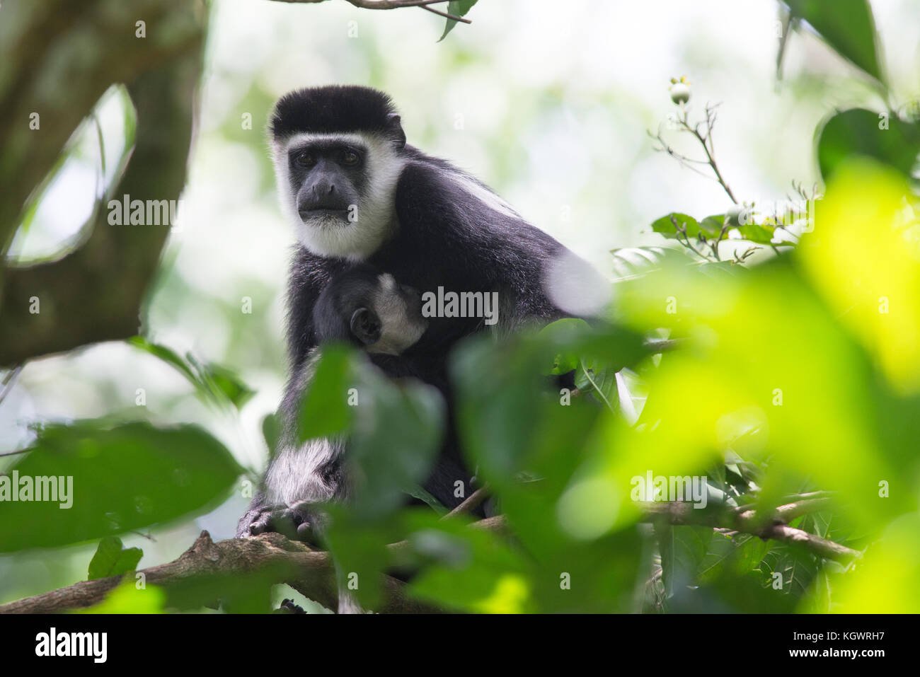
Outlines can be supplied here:
[[[731, 450], [769, 459], [768, 503], [807, 479], [857, 505], [866, 526], [898, 510], [878, 496], [880, 479], [897, 474], [874, 429], [869, 365], [787, 262], [718, 280], [665, 271], [636, 281], [620, 302], [637, 327], [690, 338], [662, 359], [638, 427], [600, 427], [592, 463], [621, 495], [633, 476], [700, 474]], [[618, 522], [634, 516], [630, 502]]]

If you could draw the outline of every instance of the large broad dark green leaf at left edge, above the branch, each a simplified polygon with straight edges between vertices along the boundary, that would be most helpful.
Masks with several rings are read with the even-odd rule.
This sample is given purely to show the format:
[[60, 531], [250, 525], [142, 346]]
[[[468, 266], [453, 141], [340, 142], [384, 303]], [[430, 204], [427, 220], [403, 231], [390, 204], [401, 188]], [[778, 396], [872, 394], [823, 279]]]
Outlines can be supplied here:
[[[0, 503], [0, 552], [82, 543], [199, 514], [225, 499], [242, 472], [196, 426], [47, 426], [0, 476], [0, 496], [17, 489], [19, 497]], [[38, 488], [50, 499], [37, 500]]]

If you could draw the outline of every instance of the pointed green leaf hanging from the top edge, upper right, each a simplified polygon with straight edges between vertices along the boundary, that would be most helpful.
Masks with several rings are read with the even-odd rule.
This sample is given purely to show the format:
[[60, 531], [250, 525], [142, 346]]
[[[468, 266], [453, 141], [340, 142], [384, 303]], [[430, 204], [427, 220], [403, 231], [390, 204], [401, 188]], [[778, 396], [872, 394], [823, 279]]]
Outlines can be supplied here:
[[866, 0], [786, 0], [786, 4], [794, 17], [808, 21], [834, 51], [884, 83], [875, 21]]

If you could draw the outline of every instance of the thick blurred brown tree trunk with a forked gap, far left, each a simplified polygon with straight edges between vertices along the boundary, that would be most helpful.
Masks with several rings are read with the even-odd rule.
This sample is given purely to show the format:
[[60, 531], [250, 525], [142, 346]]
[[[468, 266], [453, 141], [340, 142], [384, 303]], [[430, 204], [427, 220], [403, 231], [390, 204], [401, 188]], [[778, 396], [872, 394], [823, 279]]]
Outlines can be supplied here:
[[[0, 119], [10, 121], [0, 127], [0, 250], [17, 230], [29, 193], [113, 83], [127, 84], [137, 131], [131, 162], [110, 192], [132, 200], [177, 200], [201, 77], [201, 6], [142, 0], [126, 12], [120, 0], [13, 0], [3, 12], [9, 15], [5, 21], [25, 28], [17, 40], [0, 45], [20, 64], [0, 91]], [[139, 18], [149, 37], [135, 37]], [[86, 44], [97, 48], [87, 52]], [[29, 130], [31, 112], [40, 114], [38, 130]], [[138, 314], [169, 227], [109, 225], [107, 216], [98, 210], [86, 242], [68, 256], [0, 273], [0, 366], [139, 332]], [[33, 297], [38, 313], [31, 312]]]

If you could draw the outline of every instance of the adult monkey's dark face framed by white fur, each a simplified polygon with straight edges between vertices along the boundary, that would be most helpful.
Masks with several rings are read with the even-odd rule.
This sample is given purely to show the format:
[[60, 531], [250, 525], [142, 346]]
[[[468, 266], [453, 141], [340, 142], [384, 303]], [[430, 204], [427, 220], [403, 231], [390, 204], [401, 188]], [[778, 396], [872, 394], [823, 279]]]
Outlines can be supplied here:
[[403, 166], [391, 139], [294, 134], [275, 142], [282, 207], [300, 242], [324, 257], [367, 258], [393, 232]]

